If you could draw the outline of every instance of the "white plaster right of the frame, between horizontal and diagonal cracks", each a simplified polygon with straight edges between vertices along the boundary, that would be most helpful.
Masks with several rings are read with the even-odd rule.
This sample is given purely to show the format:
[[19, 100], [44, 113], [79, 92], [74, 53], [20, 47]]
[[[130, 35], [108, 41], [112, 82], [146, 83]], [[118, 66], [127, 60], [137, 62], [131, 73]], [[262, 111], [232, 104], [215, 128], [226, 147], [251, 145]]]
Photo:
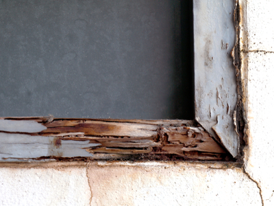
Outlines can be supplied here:
[[274, 205], [273, 65], [273, 53], [249, 53], [249, 150], [245, 165], [262, 190], [264, 205]]

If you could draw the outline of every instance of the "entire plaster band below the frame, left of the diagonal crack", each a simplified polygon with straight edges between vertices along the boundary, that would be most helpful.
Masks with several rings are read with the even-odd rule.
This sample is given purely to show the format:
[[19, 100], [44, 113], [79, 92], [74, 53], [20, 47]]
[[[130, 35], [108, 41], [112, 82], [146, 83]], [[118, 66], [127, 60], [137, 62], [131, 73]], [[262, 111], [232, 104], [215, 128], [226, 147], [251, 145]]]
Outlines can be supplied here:
[[256, 183], [235, 164], [94, 162], [18, 166], [5, 164], [7, 168], [0, 169], [0, 205], [261, 203]]

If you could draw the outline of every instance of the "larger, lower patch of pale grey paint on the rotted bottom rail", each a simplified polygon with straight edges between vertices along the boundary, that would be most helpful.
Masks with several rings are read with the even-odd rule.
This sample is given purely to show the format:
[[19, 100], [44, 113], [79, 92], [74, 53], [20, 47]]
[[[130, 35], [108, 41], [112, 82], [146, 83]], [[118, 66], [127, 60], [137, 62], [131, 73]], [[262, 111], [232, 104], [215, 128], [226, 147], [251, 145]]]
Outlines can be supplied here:
[[84, 148], [99, 146], [89, 141], [61, 140], [55, 146], [56, 137], [42, 137], [22, 134], [0, 133], [0, 161], [9, 158], [39, 157], [92, 157]]

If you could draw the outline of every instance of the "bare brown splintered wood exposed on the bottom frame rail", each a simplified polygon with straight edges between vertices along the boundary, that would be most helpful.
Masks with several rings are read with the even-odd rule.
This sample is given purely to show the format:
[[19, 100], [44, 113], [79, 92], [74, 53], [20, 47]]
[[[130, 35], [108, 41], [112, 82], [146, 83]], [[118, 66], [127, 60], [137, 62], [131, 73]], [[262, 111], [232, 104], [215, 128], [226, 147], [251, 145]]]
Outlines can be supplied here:
[[[87, 145], [81, 148], [93, 154], [91, 159], [103, 159], [104, 155], [112, 155], [113, 159], [115, 157], [154, 160], [231, 159], [227, 150], [192, 121], [119, 119], [51, 119], [49, 121], [49, 118], [51, 117], [1, 119], [36, 121], [47, 129], [27, 135], [56, 137], [58, 147], [64, 141], [86, 141], [88, 144], [97, 144], [97, 146]], [[0, 132], [7, 133], [7, 131]], [[118, 156], [115, 156], [117, 154]], [[62, 159], [62, 156], [58, 158]]]

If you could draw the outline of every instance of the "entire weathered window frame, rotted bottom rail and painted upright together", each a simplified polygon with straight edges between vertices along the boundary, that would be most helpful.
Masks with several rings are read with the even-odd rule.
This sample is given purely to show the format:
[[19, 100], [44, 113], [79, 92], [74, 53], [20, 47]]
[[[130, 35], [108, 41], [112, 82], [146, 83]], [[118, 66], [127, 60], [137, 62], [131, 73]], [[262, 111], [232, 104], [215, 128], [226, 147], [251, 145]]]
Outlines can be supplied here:
[[[230, 33], [235, 34], [231, 23], [234, 23], [233, 15], [235, 18], [238, 5], [234, 11], [234, 1], [231, 0], [228, 4], [232, 11], [227, 12], [227, 7], [223, 7], [218, 0], [214, 1], [193, 0], [194, 121], [0, 117], [0, 161], [234, 159], [238, 155], [240, 129], [240, 97], [237, 95], [239, 86], [236, 79], [239, 43], [237, 40], [235, 45]], [[215, 18], [203, 18], [208, 10], [221, 12]], [[207, 29], [201, 30], [201, 24]], [[230, 25], [229, 34], [223, 29], [224, 25]], [[200, 41], [205, 36], [208, 40]], [[238, 39], [237, 36], [235, 38]], [[213, 46], [209, 47], [208, 42]], [[232, 65], [230, 47], [234, 48], [232, 56], [236, 69]], [[221, 52], [225, 54], [220, 55]], [[210, 72], [205, 72], [209, 64], [212, 66]], [[219, 67], [225, 69], [220, 70]], [[199, 78], [200, 73], [204, 78]], [[217, 81], [216, 76], [221, 78]], [[215, 87], [216, 91], [212, 92]], [[212, 95], [208, 95], [210, 93]], [[212, 101], [215, 103], [212, 104]]]

